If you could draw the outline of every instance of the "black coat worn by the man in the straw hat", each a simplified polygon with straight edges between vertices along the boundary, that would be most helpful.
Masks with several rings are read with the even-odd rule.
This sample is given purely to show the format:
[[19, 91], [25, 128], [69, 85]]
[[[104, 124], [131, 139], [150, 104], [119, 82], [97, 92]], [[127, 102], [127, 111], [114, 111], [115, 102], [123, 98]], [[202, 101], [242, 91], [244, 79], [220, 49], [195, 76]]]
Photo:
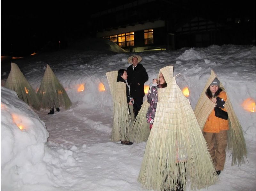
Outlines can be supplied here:
[[[130, 86], [130, 94], [133, 98], [143, 97], [144, 83], [148, 81], [148, 73], [142, 64], [138, 64], [134, 70], [132, 65], [127, 68], [127, 83]], [[138, 85], [140, 83], [140, 85]]]

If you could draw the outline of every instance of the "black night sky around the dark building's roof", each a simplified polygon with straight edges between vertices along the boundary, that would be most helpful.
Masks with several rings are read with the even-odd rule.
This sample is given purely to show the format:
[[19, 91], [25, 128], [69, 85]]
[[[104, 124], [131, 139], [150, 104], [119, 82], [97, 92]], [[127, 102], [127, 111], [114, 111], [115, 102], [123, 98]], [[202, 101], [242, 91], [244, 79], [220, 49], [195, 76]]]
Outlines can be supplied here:
[[[65, 48], [71, 39], [91, 35], [91, 13], [111, 7], [112, 4], [133, 1], [1, 1], [1, 55], [25, 56], [42, 49], [54, 51]], [[251, 15], [255, 23], [253, 1], [182, 2], [190, 7], [185, 14], [201, 14], [216, 19], [230, 14]]]

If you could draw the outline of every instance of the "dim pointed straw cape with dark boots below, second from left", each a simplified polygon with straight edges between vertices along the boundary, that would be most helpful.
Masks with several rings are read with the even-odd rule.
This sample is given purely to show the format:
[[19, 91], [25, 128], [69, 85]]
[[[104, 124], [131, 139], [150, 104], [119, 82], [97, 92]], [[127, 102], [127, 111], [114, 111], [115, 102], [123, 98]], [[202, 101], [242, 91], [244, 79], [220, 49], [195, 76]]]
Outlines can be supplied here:
[[50, 109], [52, 106], [68, 109], [72, 105], [68, 94], [48, 64], [37, 95], [44, 109]]

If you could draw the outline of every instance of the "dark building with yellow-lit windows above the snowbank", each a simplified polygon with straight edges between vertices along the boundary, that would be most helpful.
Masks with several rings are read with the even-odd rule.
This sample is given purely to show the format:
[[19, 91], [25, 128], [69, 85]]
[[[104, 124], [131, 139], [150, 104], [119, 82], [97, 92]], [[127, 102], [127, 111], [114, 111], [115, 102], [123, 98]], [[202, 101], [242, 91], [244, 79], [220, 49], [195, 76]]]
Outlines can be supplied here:
[[[107, 1], [91, 14], [92, 34], [109, 39], [130, 52], [255, 44], [254, 15], [252, 17], [246, 7], [233, 8], [228, 3], [219, 3]], [[239, 8], [239, 12], [236, 11]]]

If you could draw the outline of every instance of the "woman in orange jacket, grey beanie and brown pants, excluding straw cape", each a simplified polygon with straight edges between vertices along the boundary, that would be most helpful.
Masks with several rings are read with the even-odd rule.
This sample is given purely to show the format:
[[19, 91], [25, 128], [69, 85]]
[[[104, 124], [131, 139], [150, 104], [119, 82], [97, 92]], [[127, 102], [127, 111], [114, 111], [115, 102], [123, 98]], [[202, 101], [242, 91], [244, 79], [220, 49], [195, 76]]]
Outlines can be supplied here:
[[[217, 107], [227, 111], [224, 107], [227, 95], [226, 92], [220, 88], [220, 81], [217, 78], [212, 81], [211, 85], [206, 90], [206, 96], [215, 103]], [[216, 117], [213, 109], [205, 122], [203, 134], [208, 144], [208, 149], [215, 165], [217, 175], [223, 170], [226, 160], [226, 147], [228, 144], [227, 130], [228, 120]]]

